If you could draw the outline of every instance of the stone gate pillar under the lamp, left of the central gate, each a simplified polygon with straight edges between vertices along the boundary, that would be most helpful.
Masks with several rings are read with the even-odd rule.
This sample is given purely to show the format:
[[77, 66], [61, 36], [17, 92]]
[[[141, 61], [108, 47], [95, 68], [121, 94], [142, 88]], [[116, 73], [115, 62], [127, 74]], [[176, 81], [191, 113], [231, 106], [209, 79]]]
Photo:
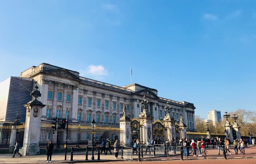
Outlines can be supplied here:
[[[152, 131], [152, 120], [154, 117], [151, 116], [144, 116], [138, 117], [139, 124], [142, 126], [142, 141], [147, 143], [147, 140], [151, 141], [153, 138], [153, 131]], [[146, 138], [143, 138], [146, 136]]]

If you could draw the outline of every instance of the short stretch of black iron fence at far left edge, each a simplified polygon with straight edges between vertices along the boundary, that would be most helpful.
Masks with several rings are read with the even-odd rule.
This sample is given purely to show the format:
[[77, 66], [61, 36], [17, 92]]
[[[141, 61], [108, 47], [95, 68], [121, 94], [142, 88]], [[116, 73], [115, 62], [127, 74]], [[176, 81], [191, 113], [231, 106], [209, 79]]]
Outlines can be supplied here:
[[9, 148], [11, 142], [11, 126], [0, 127], [0, 148]]

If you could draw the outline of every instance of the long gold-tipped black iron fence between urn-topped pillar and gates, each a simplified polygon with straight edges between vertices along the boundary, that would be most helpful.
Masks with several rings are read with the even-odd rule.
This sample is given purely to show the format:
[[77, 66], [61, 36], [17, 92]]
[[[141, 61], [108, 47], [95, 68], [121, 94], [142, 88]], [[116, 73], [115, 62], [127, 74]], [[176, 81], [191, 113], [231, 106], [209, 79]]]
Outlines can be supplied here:
[[[69, 126], [68, 133], [66, 129], [55, 130], [51, 128], [51, 124], [42, 124], [40, 130], [39, 147], [45, 148], [51, 140], [54, 147], [87, 147], [92, 146], [92, 127], [90, 126]], [[113, 144], [118, 140], [120, 144], [123, 142], [123, 130], [119, 127], [95, 127], [94, 137], [96, 145], [100, 145], [102, 138], [109, 139]], [[58, 139], [57, 139], [58, 136]], [[112, 144], [112, 145], [113, 145]]]

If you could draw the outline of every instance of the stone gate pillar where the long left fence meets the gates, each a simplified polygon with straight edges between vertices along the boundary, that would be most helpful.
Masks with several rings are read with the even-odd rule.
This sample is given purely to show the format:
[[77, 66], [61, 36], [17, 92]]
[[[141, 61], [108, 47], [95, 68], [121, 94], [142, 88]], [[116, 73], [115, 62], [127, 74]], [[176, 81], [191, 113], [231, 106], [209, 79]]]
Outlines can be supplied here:
[[131, 147], [131, 120], [129, 117], [121, 117], [120, 120], [120, 129], [123, 132], [120, 134], [120, 139], [123, 139], [123, 146]]

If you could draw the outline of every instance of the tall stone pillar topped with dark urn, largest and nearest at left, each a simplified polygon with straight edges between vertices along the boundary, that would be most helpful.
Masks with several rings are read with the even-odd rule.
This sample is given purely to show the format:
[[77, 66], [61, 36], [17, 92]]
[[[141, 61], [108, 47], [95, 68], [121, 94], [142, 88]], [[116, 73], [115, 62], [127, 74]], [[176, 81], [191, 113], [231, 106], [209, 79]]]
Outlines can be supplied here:
[[23, 146], [20, 153], [24, 156], [39, 154], [39, 137], [41, 128], [42, 108], [45, 106], [36, 100], [41, 96], [38, 86], [30, 93], [34, 100], [24, 104], [26, 107], [26, 122]]

